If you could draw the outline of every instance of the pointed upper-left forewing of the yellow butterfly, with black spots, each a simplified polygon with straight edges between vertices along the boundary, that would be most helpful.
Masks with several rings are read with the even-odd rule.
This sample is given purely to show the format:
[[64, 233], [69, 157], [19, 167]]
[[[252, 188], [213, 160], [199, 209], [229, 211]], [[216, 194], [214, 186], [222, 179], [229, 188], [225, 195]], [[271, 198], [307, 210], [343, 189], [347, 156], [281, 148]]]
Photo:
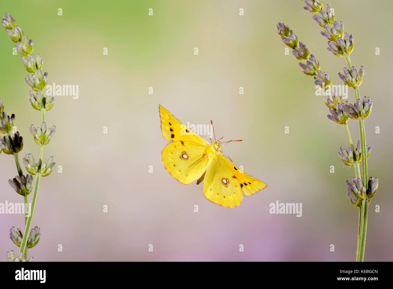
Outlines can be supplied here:
[[170, 142], [188, 141], [196, 142], [198, 144], [210, 145], [207, 140], [189, 129], [181, 121], [175, 118], [162, 105], [159, 106], [161, 118], [161, 132], [162, 136]]

